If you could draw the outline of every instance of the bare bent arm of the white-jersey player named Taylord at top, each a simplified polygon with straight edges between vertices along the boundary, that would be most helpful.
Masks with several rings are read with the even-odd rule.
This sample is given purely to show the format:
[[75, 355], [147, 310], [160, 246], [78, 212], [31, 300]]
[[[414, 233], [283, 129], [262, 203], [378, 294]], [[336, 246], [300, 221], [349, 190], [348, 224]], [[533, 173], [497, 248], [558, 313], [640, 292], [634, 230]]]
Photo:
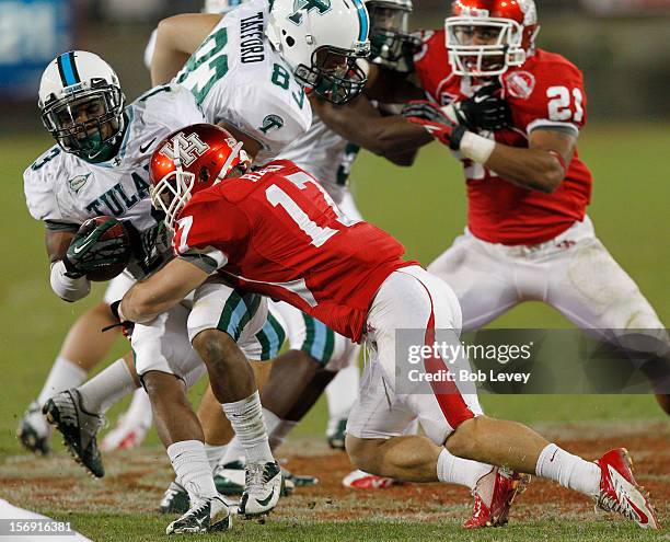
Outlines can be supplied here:
[[188, 57], [221, 20], [221, 15], [188, 13], [163, 19], [158, 26], [151, 59], [151, 84], [172, 81]]

